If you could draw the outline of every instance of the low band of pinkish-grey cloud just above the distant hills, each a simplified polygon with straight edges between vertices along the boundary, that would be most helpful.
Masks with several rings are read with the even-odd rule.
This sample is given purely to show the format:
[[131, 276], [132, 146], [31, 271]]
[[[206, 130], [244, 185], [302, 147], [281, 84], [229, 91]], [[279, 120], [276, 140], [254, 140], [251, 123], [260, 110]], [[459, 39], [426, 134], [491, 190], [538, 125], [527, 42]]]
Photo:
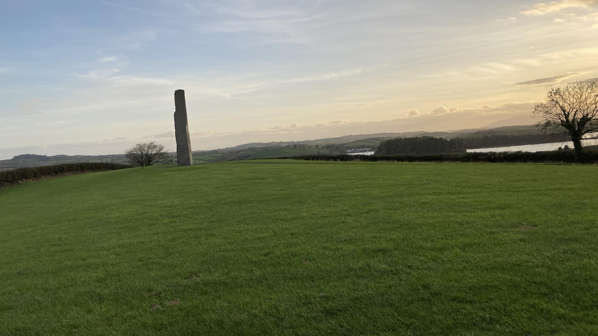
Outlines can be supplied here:
[[[270, 126], [262, 129], [245, 130], [242, 132], [219, 132], [209, 130], [206, 132], [191, 131], [191, 148], [193, 150], [226, 148], [250, 142], [282, 142], [302, 141], [313, 139], [334, 138], [343, 135], [375, 134], [375, 133], [401, 133], [415, 131], [446, 131], [470, 127], [461, 127], [462, 118], [467, 118], [475, 127], [483, 127], [494, 121], [507, 119], [514, 115], [530, 115], [534, 102], [507, 103], [492, 107], [484, 105], [481, 108], [446, 108], [439, 106], [432, 111], [416, 117], [405, 116], [390, 120], [349, 121], [335, 120], [328, 123], [303, 125], [293, 123], [282, 126]], [[410, 114], [410, 111], [408, 114]], [[418, 111], [419, 112], [419, 111]], [[530, 124], [532, 119], [530, 117]], [[426, 128], [429, 124], [436, 125], [432, 129]], [[98, 151], [100, 154], [118, 154], [139, 141], [155, 140], [163, 143], [170, 151], [175, 150], [175, 132], [142, 136], [139, 139], [124, 137], [105, 139], [91, 142], [57, 143], [44, 146], [27, 146], [20, 148], [0, 148], [1, 159], [11, 158], [19, 154], [39, 155], [79, 155]], [[219, 145], [224, 144], [224, 145]], [[90, 155], [90, 154], [87, 154]]]

